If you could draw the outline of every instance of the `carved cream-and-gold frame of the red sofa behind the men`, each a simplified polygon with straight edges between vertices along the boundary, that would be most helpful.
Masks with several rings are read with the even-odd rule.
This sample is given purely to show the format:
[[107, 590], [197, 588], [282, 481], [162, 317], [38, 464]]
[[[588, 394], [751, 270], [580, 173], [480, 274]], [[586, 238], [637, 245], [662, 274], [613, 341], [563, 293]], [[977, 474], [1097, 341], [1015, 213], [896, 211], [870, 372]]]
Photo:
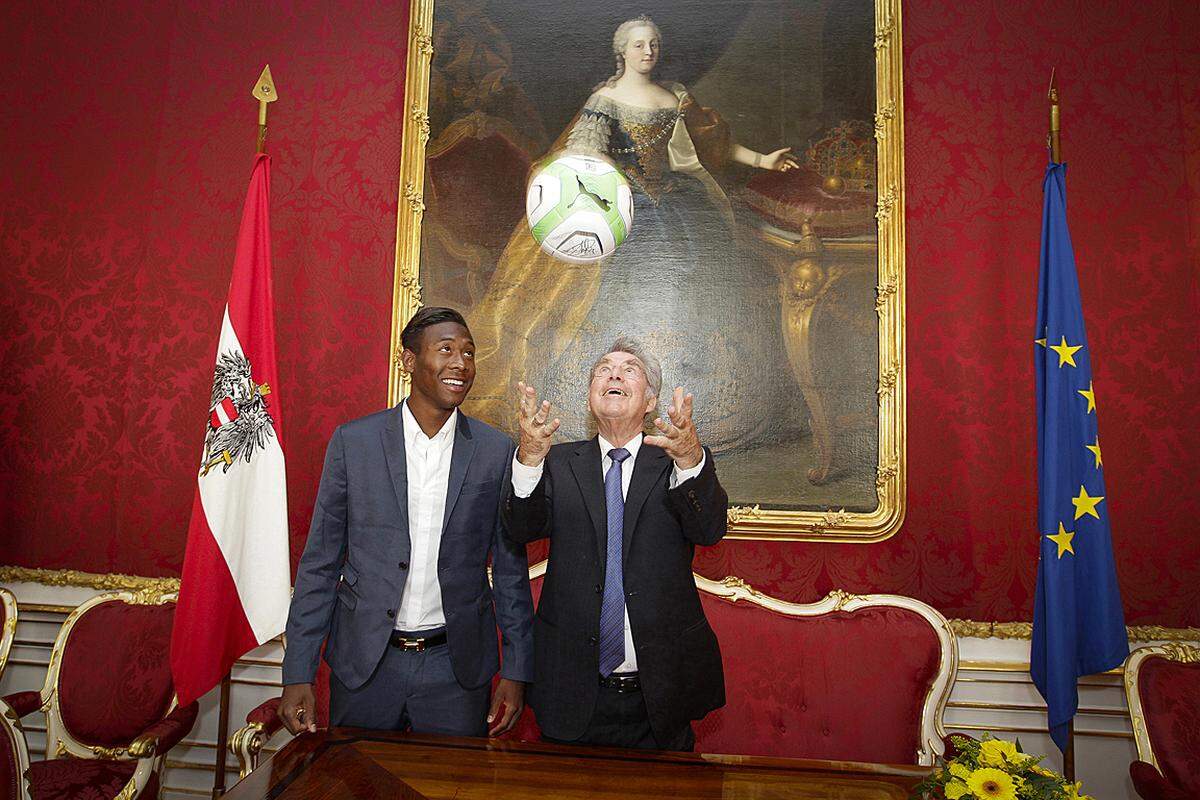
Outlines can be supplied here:
[[[529, 579], [540, 578], [546, 575], [548, 561], [539, 561], [529, 567]], [[950, 622], [940, 610], [902, 595], [852, 595], [841, 589], [834, 589], [824, 599], [815, 603], [793, 603], [778, 597], [770, 597], [752, 589], [742, 578], [728, 576], [721, 581], [713, 581], [702, 575], [691, 573], [696, 582], [696, 589], [706, 594], [728, 600], [734, 603], [749, 602], [768, 610], [773, 610], [785, 616], [821, 616], [830, 612], [853, 612], [859, 608], [872, 606], [886, 606], [890, 608], [905, 608], [919, 614], [937, 634], [941, 645], [941, 656], [937, 664], [937, 673], [925, 698], [922, 702], [920, 711], [920, 747], [914, 753], [917, 764], [920, 766], [932, 766], [934, 760], [946, 751], [946, 704], [950, 699], [950, 691], [954, 688], [954, 679], [959, 672], [959, 643], [954, 636]]]

